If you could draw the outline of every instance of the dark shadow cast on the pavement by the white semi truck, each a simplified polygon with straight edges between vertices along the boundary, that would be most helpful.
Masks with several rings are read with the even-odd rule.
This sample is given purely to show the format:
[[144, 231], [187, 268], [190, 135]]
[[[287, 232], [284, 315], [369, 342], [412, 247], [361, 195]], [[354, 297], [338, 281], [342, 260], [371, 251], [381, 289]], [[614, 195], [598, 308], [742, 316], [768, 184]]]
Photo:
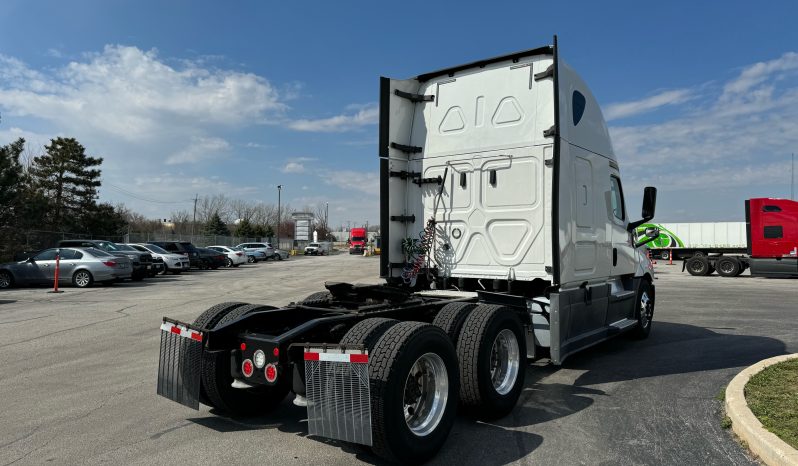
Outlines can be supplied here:
[[[430, 464], [508, 464], [518, 461], [544, 441], [543, 436], [527, 432], [526, 428], [570, 416], [589, 408], [599, 397], [608, 396], [602, 390], [590, 388], [590, 385], [744, 367], [785, 352], [784, 343], [774, 338], [718, 333], [693, 325], [655, 321], [651, 336], [646, 340], [614, 338], [569, 357], [562, 367], [529, 365], [524, 390], [512, 413], [493, 422], [482, 422], [461, 409], [448, 441]], [[566, 374], [570, 371], [581, 373], [574, 383], [557, 381], [569, 379]], [[549, 377], [554, 380], [547, 381]], [[189, 421], [218, 432], [276, 428], [305, 437], [308, 435], [307, 413], [304, 408], [294, 406], [291, 399], [289, 394], [275, 412], [264, 417], [231, 419], [214, 416]], [[214, 410], [211, 413], [217, 414]], [[367, 447], [310, 438], [340, 448], [360, 461], [384, 463]]]

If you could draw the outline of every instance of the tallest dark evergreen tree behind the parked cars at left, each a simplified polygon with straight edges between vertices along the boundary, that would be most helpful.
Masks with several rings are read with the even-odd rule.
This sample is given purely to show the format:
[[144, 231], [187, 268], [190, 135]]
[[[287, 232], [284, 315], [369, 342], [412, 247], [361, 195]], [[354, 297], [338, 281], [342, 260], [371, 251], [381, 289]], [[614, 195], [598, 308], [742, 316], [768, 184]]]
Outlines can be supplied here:
[[95, 206], [100, 186], [102, 158], [89, 157], [74, 138], [58, 137], [44, 146], [45, 154], [33, 159], [33, 184], [49, 200], [49, 225], [80, 227], [78, 219]]

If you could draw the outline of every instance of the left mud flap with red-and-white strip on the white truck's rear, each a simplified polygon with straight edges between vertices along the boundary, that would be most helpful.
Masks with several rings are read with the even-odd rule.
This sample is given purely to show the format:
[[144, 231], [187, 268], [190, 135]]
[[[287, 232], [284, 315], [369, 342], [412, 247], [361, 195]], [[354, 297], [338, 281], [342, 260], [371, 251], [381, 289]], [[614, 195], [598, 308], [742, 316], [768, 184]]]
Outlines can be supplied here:
[[202, 332], [188, 324], [161, 324], [158, 394], [193, 409], [199, 409], [202, 338]]

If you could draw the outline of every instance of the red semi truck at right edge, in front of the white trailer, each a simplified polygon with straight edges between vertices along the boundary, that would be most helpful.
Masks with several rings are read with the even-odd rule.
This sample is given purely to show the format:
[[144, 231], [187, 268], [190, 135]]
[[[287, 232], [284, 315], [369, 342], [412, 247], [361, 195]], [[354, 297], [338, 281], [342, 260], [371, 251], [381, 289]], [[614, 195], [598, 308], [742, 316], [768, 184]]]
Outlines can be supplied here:
[[[668, 233], [660, 230], [661, 236]], [[677, 245], [650, 250], [654, 257], [672, 254], [685, 258], [684, 268], [691, 275], [717, 271], [723, 277], [734, 277], [750, 268], [754, 276], [798, 277], [798, 202], [772, 198], [745, 201], [745, 245], [739, 247]]]

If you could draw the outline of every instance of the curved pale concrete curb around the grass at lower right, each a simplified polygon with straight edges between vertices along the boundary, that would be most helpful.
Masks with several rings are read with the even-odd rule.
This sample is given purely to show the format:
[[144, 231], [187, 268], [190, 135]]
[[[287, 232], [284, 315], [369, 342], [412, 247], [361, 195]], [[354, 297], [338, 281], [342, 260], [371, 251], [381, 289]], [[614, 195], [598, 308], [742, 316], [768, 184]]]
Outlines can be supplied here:
[[726, 414], [732, 421], [732, 430], [769, 466], [798, 466], [798, 450], [762, 427], [745, 401], [745, 384], [762, 369], [797, 358], [798, 354], [785, 354], [759, 361], [737, 374], [726, 387]]

